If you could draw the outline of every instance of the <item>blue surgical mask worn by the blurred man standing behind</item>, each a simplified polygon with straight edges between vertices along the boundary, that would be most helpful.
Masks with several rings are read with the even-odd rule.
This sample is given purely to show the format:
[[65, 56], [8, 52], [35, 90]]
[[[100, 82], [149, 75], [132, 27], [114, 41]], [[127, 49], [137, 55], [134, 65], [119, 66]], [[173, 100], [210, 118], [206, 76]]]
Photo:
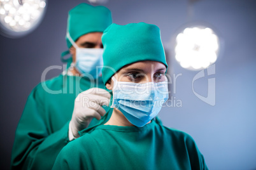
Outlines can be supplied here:
[[[103, 49], [101, 48], [79, 48], [67, 33], [71, 44], [76, 48], [75, 67], [80, 74], [96, 79], [101, 75], [103, 66]], [[89, 74], [89, 75], [88, 75]]]

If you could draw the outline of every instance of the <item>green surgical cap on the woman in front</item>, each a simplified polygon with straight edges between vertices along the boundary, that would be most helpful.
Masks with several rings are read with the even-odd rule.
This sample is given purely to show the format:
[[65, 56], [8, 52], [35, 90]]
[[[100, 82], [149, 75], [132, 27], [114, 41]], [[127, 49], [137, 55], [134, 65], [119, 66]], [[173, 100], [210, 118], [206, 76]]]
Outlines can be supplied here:
[[111, 24], [103, 32], [103, 82], [122, 67], [139, 61], [156, 61], [166, 65], [160, 29], [148, 23]]

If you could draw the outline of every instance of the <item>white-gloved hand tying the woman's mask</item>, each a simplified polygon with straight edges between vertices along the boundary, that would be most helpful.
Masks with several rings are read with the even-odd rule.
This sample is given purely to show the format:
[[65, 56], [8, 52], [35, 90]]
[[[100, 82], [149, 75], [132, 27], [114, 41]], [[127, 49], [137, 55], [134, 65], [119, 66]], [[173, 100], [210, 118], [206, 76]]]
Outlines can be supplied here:
[[72, 119], [69, 122], [69, 140], [78, 138], [78, 131], [87, 128], [92, 118], [97, 120], [106, 114], [102, 105], [110, 104], [111, 95], [105, 89], [91, 88], [80, 93], [75, 99]]

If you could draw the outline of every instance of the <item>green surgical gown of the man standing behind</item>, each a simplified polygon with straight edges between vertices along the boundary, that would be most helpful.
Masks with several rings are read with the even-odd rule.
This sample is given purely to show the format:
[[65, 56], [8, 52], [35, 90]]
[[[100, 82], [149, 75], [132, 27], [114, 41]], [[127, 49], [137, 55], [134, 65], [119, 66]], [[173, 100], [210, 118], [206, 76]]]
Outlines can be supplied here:
[[[69, 143], [68, 126], [76, 96], [94, 87], [105, 88], [101, 77], [90, 81], [59, 75], [38, 84], [17, 126], [11, 169], [52, 169], [60, 150]], [[95, 124], [97, 119], [92, 119], [89, 127]]]

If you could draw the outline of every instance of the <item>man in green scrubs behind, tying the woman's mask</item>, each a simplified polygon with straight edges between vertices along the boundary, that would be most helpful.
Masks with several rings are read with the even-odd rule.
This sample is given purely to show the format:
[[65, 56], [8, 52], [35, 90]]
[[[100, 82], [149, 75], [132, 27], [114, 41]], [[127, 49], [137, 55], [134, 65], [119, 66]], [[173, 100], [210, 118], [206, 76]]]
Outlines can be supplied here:
[[69, 11], [71, 66], [29, 95], [15, 134], [11, 169], [52, 169], [60, 150], [80, 137], [78, 131], [94, 126], [106, 113], [101, 105], [108, 105], [111, 95], [101, 89], [97, 67], [103, 66], [101, 36], [111, 23], [111, 11], [104, 6], [82, 3]]

